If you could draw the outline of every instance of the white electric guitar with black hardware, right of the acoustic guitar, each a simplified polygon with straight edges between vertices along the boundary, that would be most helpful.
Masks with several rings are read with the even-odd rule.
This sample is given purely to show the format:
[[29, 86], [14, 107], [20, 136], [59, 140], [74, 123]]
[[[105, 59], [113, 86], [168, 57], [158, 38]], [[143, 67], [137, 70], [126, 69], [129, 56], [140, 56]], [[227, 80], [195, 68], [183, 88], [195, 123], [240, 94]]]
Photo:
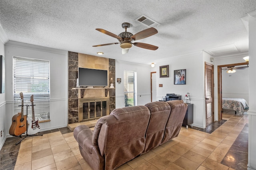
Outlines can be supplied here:
[[28, 117], [28, 135], [34, 135], [40, 131], [40, 126], [38, 125], [38, 119], [35, 120], [35, 111], [34, 111], [34, 95], [30, 98], [32, 106], [32, 119]]

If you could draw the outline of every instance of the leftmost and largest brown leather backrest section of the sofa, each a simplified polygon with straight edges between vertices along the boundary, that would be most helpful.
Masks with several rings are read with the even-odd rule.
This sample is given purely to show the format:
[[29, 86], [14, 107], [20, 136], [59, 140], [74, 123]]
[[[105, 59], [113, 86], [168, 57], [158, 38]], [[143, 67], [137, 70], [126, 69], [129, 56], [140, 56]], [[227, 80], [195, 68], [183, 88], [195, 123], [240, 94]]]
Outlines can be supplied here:
[[148, 107], [131, 106], [114, 109], [97, 121], [93, 142], [105, 156], [106, 170], [115, 169], [142, 153], [149, 119]]

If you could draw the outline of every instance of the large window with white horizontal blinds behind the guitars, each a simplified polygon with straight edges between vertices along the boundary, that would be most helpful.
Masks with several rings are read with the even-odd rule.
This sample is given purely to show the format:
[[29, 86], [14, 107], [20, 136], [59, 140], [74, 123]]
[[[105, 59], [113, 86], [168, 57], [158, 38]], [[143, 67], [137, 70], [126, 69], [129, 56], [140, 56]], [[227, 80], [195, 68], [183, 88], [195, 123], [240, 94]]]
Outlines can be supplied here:
[[[14, 113], [21, 112], [20, 92], [24, 96], [24, 114], [31, 106], [30, 97], [34, 96], [35, 119], [50, 120], [50, 61], [14, 57]], [[32, 117], [28, 109], [28, 117]]]

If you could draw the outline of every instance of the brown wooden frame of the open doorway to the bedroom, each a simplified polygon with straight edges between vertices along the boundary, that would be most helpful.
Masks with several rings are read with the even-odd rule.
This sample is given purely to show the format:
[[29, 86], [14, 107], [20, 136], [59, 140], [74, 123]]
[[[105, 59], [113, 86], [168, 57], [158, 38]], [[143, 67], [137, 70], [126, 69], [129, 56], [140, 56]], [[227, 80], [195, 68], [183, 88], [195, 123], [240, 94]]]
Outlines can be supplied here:
[[222, 120], [222, 67], [247, 65], [248, 63], [234, 63], [218, 66], [218, 121]]

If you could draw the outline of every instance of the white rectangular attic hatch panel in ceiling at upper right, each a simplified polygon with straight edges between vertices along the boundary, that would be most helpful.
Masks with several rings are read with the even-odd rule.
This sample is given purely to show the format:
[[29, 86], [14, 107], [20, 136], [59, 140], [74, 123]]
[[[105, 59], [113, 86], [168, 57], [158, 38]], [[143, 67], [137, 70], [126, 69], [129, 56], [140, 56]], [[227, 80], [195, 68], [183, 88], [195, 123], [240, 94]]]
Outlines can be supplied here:
[[215, 47], [212, 49], [208, 49], [208, 52], [213, 55], [222, 55], [222, 54], [232, 54], [240, 52], [239, 49], [234, 44], [224, 45], [221, 47]]

